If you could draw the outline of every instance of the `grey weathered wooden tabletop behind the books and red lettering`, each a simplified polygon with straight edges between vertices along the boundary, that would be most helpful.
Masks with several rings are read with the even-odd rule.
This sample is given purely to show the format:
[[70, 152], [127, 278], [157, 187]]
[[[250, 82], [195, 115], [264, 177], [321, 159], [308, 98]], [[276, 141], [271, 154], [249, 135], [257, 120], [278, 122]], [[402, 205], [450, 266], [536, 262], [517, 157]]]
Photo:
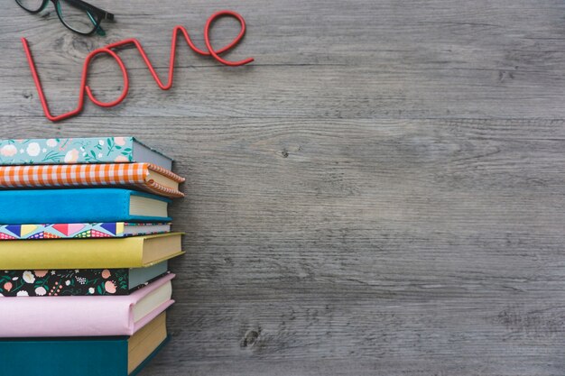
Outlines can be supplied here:
[[[0, 129], [135, 135], [187, 178], [172, 341], [142, 376], [565, 374], [563, 1], [92, 2], [105, 38], [5, 2]], [[21, 37], [59, 115], [90, 50], [138, 38], [164, 78], [173, 26], [204, 46], [225, 8], [251, 65], [182, 42], [167, 92], [121, 50], [122, 105], [45, 119]], [[109, 58], [88, 82], [123, 86]]]

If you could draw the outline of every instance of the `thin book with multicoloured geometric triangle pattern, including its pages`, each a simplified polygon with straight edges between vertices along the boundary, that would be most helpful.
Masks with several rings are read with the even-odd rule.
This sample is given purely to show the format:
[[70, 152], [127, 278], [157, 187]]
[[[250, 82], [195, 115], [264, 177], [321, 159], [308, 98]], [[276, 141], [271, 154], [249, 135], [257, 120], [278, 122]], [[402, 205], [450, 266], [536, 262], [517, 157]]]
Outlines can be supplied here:
[[0, 241], [23, 239], [119, 238], [162, 234], [171, 224], [105, 222], [96, 224], [0, 225]]

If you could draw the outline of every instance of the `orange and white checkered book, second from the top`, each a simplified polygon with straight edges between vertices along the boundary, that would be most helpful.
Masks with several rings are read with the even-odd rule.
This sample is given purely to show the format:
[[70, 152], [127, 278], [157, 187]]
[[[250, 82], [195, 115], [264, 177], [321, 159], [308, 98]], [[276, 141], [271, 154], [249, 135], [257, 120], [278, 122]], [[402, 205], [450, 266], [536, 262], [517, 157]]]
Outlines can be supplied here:
[[152, 163], [0, 166], [0, 188], [110, 186], [139, 188], [165, 197], [184, 197], [184, 181]]

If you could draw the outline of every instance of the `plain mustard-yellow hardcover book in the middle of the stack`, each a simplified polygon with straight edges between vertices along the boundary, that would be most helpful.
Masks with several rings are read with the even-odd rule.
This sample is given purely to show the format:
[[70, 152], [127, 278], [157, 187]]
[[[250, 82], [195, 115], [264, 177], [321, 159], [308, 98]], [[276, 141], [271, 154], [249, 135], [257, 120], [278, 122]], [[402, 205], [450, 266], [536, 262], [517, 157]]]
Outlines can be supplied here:
[[0, 242], [0, 271], [144, 268], [182, 254], [181, 235]]

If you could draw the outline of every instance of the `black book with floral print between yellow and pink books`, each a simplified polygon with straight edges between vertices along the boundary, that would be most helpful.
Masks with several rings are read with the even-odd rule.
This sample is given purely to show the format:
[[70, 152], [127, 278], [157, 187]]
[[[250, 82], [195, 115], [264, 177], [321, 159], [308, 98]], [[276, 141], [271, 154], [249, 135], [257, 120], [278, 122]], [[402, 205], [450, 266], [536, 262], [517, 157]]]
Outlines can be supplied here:
[[0, 271], [1, 297], [129, 295], [168, 273], [167, 261], [147, 268]]

